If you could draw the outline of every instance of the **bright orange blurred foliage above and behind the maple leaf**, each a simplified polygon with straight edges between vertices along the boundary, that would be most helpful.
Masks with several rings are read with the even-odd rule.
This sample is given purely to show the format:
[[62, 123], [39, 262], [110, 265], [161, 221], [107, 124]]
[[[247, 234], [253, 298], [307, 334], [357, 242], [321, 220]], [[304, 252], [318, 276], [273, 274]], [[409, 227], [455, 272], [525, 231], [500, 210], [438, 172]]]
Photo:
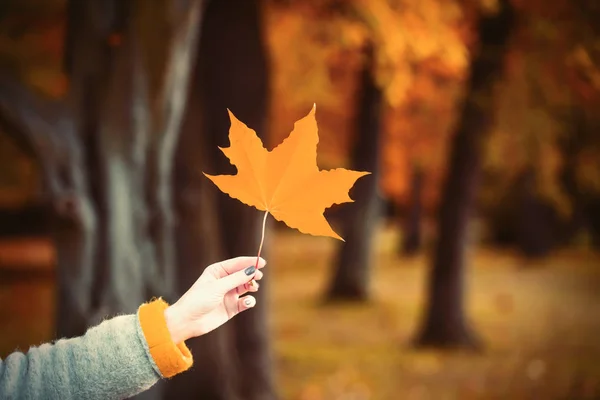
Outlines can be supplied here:
[[468, 67], [469, 29], [458, 2], [267, 2], [265, 11], [273, 67], [271, 140], [281, 141], [286, 121], [318, 102], [324, 161], [347, 162], [357, 77], [369, 44], [387, 104], [382, 189], [403, 202], [411, 165], [418, 163], [427, 171], [426, 201], [433, 204]]

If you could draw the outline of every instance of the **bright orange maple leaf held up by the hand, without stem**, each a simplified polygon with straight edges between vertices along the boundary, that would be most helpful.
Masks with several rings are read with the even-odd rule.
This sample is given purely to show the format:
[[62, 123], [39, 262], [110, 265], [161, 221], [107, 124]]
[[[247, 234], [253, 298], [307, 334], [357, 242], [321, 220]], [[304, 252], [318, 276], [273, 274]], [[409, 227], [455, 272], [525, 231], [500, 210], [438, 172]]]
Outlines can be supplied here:
[[302, 233], [343, 240], [323, 212], [334, 204], [353, 202], [348, 191], [370, 172], [319, 170], [315, 110], [316, 105], [272, 151], [228, 110], [230, 147], [219, 149], [237, 168], [237, 174], [204, 175], [234, 199], [265, 211], [265, 219], [271, 214]]

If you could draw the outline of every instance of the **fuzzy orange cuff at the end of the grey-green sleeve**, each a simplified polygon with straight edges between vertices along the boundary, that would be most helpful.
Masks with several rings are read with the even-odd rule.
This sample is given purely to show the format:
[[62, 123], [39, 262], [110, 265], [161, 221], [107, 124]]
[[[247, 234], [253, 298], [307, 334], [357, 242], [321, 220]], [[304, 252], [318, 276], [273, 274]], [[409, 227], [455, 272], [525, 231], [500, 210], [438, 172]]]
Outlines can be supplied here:
[[138, 310], [140, 325], [150, 354], [165, 378], [189, 369], [194, 360], [184, 342], [175, 344], [167, 329], [165, 310], [169, 305], [162, 299], [144, 303]]

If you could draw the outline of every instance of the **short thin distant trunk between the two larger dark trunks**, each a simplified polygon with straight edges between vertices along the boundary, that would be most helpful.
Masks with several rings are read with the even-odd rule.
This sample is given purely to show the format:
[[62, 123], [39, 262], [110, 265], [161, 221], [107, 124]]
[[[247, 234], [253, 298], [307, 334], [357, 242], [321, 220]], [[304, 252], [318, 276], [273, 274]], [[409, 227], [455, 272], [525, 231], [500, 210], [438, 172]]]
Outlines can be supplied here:
[[411, 176], [411, 196], [408, 215], [405, 217], [404, 235], [402, 236], [401, 253], [413, 256], [419, 252], [422, 244], [421, 220], [423, 216], [423, 169], [413, 165]]

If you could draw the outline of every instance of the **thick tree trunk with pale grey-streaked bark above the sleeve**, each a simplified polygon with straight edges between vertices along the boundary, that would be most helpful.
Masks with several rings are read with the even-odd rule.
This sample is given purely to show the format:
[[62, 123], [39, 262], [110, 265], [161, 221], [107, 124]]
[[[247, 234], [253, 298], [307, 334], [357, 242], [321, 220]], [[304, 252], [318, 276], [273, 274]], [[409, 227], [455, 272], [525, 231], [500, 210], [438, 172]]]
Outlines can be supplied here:
[[101, 221], [101, 257], [96, 259], [106, 265], [95, 272], [97, 318], [112, 310], [134, 311], [150, 295], [173, 294], [169, 160], [182, 119], [200, 5], [69, 4], [69, 100], [80, 151], [87, 150], [87, 165], [79, 173], [93, 184]]

